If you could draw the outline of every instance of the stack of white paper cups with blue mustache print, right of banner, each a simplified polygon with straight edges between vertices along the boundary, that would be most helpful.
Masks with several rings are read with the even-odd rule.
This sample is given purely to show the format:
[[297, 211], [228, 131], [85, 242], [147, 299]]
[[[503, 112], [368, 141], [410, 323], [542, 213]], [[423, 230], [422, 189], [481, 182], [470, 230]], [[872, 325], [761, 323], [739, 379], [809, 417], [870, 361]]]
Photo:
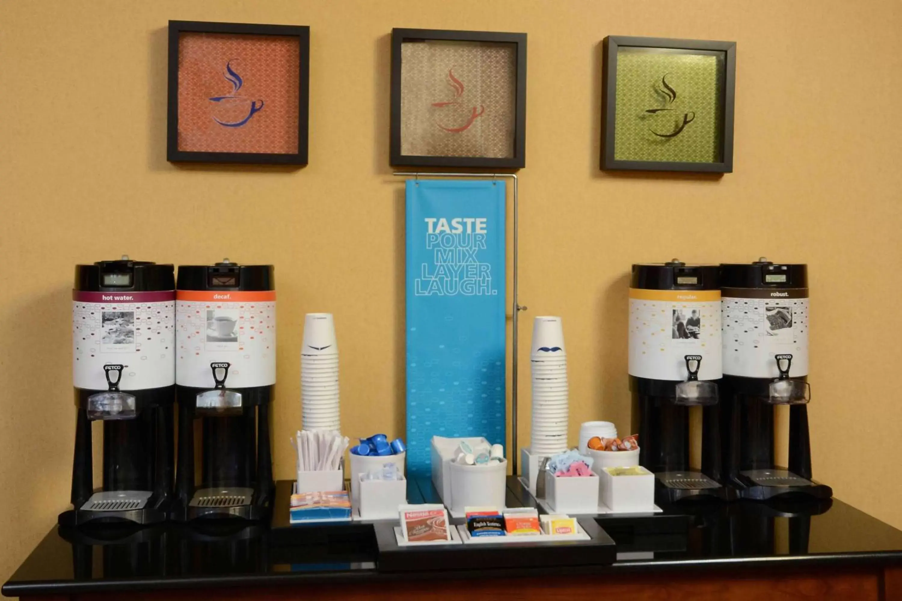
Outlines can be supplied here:
[[564, 329], [560, 317], [536, 317], [532, 326], [533, 455], [567, 450], [569, 398]]

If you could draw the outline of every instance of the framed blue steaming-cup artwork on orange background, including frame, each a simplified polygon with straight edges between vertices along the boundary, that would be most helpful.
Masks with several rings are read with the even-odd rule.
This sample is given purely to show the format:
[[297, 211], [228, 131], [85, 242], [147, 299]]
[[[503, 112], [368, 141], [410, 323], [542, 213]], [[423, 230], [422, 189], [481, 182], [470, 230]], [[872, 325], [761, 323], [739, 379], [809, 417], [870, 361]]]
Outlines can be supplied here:
[[170, 21], [170, 161], [306, 165], [310, 30]]

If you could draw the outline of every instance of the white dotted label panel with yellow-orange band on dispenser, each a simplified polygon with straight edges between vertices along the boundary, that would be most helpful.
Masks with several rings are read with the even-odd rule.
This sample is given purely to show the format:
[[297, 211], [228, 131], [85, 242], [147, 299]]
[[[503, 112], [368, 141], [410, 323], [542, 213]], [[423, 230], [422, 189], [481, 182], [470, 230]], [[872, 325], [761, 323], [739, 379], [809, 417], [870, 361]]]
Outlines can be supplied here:
[[720, 290], [630, 288], [630, 375], [685, 381], [686, 355], [700, 380], [723, 375]]

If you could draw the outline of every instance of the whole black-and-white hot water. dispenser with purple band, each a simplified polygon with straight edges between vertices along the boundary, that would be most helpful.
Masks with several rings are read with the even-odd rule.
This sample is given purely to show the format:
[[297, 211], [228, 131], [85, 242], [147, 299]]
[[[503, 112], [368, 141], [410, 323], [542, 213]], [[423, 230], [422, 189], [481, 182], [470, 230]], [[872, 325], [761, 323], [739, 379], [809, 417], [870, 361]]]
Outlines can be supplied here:
[[[75, 268], [72, 379], [78, 407], [72, 509], [60, 524], [151, 524], [172, 493], [175, 280], [171, 265], [98, 261]], [[94, 490], [91, 424], [103, 423]]]

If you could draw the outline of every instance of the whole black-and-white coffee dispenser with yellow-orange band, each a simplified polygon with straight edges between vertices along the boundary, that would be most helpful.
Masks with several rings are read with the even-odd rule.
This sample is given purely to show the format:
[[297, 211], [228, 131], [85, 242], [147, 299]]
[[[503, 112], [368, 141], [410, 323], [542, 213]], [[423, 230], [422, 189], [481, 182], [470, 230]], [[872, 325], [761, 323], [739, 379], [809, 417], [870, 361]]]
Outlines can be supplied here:
[[[656, 498], [730, 498], [721, 482], [721, 291], [716, 265], [632, 266], [630, 390], [639, 462]], [[689, 465], [689, 410], [701, 407], [701, 471]]]

